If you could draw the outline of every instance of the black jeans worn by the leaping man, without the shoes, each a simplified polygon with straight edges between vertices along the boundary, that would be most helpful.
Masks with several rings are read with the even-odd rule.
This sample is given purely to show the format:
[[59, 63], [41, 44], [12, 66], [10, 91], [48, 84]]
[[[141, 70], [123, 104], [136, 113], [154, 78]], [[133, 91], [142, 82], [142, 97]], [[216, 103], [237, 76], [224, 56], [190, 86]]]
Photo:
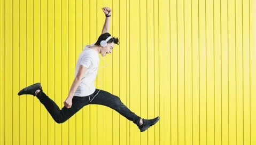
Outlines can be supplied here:
[[77, 111], [82, 109], [84, 106], [87, 106], [88, 104], [99, 104], [110, 107], [136, 125], [139, 124], [139, 120], [141, 119], [141, 117], [130, 111], [130, 109], [128, 109], [121, 102], [118, 96], [103, 90], [96, 89], [96, 91], [89, 96], [74, 96], [71, 108], [66, 108], [64, 106], [61, 110], [57, 104], [52, 101], [42, 90], [37, 94], [36, 97], [44, 105], [46, 110], [48, 110], [49, 114], [52, 116], [56, 123], [66, 122], [66, 120], [71, 118]]

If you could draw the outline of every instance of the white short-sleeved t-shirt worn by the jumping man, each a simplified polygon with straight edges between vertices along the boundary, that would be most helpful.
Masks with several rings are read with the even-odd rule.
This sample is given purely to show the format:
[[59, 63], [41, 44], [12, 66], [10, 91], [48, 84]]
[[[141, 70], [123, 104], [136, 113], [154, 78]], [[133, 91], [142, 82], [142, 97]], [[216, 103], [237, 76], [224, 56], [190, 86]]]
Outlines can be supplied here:
[[77, 90], [75, 91], [75, 96], [87, 96], [94, 93], [96, 90], [94, 81], [97, 76], [99, 66], [99, 53], [95, 50], [89, 49], [89, 46], [93, 46], [94, 44], [84, 46], [84, 50], [80, 53], [76, 62], [75, 76], [80, 65], [88, 69], [84, 74]]

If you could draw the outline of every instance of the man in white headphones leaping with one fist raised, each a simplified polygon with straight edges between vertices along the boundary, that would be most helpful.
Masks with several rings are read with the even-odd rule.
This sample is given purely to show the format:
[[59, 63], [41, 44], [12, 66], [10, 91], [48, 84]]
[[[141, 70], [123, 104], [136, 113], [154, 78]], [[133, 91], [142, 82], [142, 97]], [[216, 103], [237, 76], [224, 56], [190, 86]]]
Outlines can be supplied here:
[[141, 132], [146, 131], [150, 126], [156, 124], [159, 117], [144, 119], [137, 116], [125, 106], [118, 96], [99, 90], [95, 87], [99, 65], [99, 54], [105, 57], [111, 53], [115, 44], [119, 45], [119, 39], [112, 37], [109, 33], [111, 9], [103, 7], [106, 19], [102, 29], [102, 34], [96, 43], [84, 46], [76, 62], [75, 78], [64, 101], [64, 107], [60, 110], [57, 104], [47, 96], [42, 89], [41, 83], [35, 83], [19, 91], [18, 95], [33, 95], [44, 105], [56, 123], [64, 123], [77, 111], [88, 104], [99, 104], [110, 107], [119, 112], [136, 124]]

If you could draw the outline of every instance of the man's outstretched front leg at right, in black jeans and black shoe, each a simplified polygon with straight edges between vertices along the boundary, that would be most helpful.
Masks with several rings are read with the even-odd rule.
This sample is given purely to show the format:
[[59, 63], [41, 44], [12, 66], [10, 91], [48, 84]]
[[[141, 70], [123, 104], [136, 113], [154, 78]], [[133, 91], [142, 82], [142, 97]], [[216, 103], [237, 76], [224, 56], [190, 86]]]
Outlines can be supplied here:
[[[115, 96], [103, 90], [96, 89], [95, 93], [90, 95], [89, 97], [91, 100], [91, 104], [100, 104], [114, 109], [115, 111], [119, 112], [119, 114], [135, 123], [141, 130], [141, 132], [144, 132], [150, 126], [156, 124], [159, 120], [159, 117], [149, 120], [142, 119], [141, 117], [137, 116], [134, 112], [132, 112], [129, 108], [127, 108], [125, 104], [121, 102], [118, 96]], [[140, 123], [141, 119], [143, 120], [142, 124]]]

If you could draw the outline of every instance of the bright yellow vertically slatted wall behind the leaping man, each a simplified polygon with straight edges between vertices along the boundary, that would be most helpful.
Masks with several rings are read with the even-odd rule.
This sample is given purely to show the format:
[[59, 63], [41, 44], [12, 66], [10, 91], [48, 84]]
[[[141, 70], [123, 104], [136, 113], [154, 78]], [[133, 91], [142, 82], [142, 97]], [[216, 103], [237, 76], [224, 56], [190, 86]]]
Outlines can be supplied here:
[[[96, 85], [139, 116], [160, 116], [144, 133], [103, 106], [57, 124], [17, 95], [41, 82], [63, 106], [103, 6], [120, 46], [101, 59]], [[254, 0], [1, 0], [0, 144], [256, 144], [255, 9]]]

